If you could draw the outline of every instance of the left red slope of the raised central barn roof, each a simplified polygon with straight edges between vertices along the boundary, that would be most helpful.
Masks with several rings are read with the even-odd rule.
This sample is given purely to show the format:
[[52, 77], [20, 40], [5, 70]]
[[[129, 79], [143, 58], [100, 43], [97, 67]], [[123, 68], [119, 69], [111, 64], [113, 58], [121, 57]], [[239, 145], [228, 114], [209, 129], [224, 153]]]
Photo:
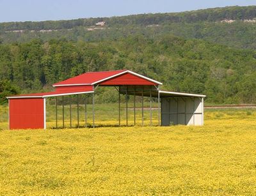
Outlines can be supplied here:
[[116, 74], [122, 73], [125, 71], [127, 70], [116, 70], [116, 71], [109, 71], [109, 72], [86, 72], [81, 75], [77, 75], [76, 77], [72, 77], [70, 79], [63, 80], [61, 82], [57, 82], [52, 86], [77, 85], [77, 84], [92, 85], [94, 82], [98, 82], [100, 80], [113, 77]]

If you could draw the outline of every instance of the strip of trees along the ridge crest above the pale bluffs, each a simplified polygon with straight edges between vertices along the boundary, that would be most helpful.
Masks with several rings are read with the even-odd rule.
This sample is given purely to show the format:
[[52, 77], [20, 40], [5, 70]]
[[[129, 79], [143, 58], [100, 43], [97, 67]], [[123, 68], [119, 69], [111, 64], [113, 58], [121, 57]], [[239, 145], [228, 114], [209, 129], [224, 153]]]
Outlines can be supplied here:
[[106, 21], [109, 27], [152, 24], [167, 24], [173, 22], [217, 22], [221, 20], [253, 20], [256, 18], [256, 6], [230, 6], [225, 8], [209, 8], [205, 10], [184, 11], [179, 13], [148, 13], [124, 17], [90, 18], [75, 20], [58, 20], [42, 22], [3, 22], [1, 31], [11, 30], [41, 30], [41, 29], [71, 29], [77, 26], [94, 26], [99, 21]]

